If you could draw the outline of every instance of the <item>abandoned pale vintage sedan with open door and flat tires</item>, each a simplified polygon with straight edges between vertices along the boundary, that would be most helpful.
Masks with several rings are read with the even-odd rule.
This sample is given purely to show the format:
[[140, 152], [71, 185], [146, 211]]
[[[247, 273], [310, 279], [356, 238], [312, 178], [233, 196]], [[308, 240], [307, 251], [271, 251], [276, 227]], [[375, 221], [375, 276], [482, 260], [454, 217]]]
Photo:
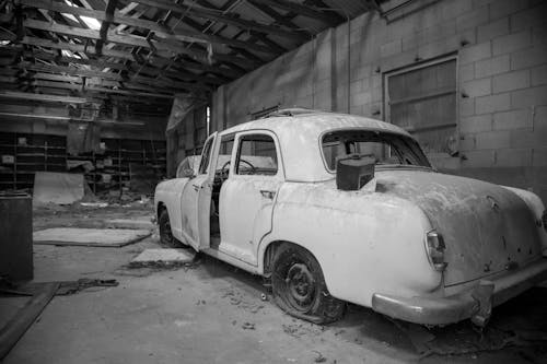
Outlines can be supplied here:
[[155, 203], [162, 243], [269, 278], [276, 303], [314, 322], [349, 302], [484, 326], [547, 280], [536, 195], [439, 173], [408, 132], [359, 116], [286, 109], [214, 132]]

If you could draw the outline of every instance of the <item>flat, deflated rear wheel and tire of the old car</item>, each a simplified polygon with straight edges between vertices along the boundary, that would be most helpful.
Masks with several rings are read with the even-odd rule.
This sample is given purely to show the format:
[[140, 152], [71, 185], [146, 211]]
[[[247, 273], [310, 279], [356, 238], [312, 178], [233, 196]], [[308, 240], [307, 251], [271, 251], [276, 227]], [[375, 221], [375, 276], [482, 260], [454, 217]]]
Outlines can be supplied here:
[[279, 248], [272, 265], [271, 289], [281, 309], [314, 324], [334, 322], [346, 312], [346, 303], [328, 293], [315, 257], [296, 245]]

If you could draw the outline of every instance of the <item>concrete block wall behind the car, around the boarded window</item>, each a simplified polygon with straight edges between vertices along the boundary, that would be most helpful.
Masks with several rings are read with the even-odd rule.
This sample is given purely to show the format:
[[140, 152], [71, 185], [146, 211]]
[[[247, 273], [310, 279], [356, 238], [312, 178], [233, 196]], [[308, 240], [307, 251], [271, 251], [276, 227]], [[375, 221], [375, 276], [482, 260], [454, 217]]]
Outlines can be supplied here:
[[213, 125], [274, 105], [384, 119], [385, 72], [456, 54], [459, 153], [433, 163], [547, 202], [546, 19], [537, 0], [442, 0], [391, 22], [363, 14], [222, 86]]

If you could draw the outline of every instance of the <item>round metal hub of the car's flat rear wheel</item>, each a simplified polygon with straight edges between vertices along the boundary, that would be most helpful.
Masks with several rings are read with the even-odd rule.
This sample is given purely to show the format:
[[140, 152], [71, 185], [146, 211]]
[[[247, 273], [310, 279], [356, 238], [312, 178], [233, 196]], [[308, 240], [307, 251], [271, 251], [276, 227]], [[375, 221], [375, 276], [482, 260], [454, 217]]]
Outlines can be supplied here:
[[312, 272], [303, 263], [293, 265], [284, 280], [288, 298], [294, 308], [307, 310], [315, 298], [315, 280]]

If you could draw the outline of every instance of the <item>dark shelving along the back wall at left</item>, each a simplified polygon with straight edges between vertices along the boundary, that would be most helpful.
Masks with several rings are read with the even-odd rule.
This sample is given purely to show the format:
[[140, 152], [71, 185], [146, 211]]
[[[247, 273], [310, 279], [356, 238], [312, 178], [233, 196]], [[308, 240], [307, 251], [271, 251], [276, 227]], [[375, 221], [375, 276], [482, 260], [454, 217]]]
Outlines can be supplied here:
[[165, 141], [102, 139], [102, 142], [103, 153], [72, 156], [67, 154], [66, 137], [0, 132], [0, 155], [13, 157], [13, 163], [0, 161], [0, 190], [32, 188], [34, 174], [39, 171], [70, 172], [68, 161], [89, 161], [93, 165], [84, 175], [94, 192], [129, 187], [131, 178], [150, 177], [149, 171], [153, 171], [158, 180], [166, 175]]

